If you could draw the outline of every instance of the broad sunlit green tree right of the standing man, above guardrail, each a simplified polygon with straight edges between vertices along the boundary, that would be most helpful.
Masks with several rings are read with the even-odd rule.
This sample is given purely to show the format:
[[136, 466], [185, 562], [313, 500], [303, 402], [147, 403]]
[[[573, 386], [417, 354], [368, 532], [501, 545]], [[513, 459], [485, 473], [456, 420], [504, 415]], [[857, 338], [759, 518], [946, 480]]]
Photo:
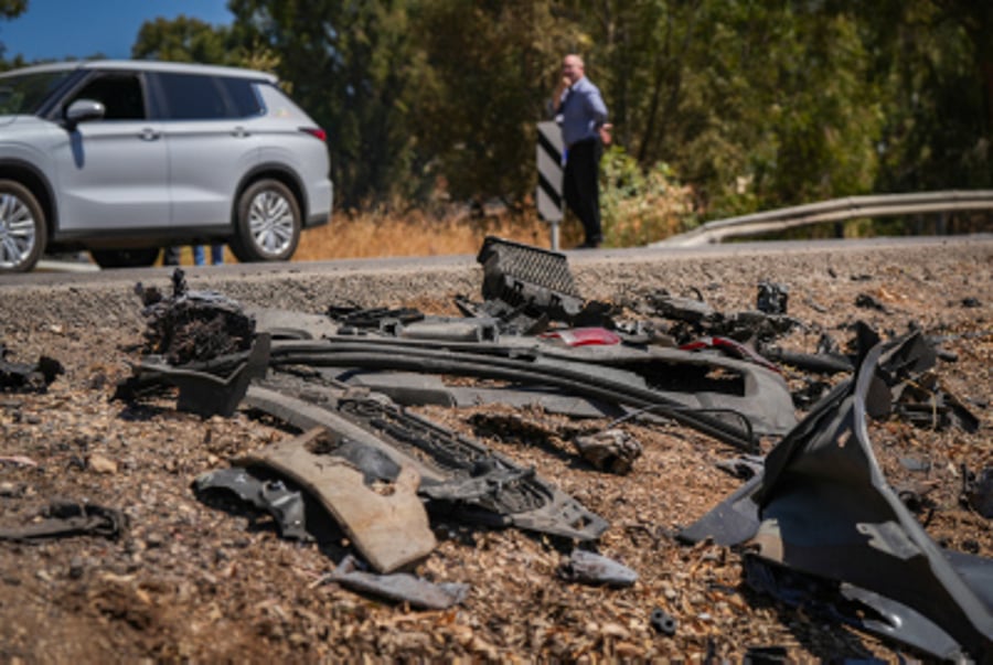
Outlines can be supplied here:
[[882, 124], [857, 25], [815, 2], [574, 0], [617, 136], [708, 216], [868, 191]]

